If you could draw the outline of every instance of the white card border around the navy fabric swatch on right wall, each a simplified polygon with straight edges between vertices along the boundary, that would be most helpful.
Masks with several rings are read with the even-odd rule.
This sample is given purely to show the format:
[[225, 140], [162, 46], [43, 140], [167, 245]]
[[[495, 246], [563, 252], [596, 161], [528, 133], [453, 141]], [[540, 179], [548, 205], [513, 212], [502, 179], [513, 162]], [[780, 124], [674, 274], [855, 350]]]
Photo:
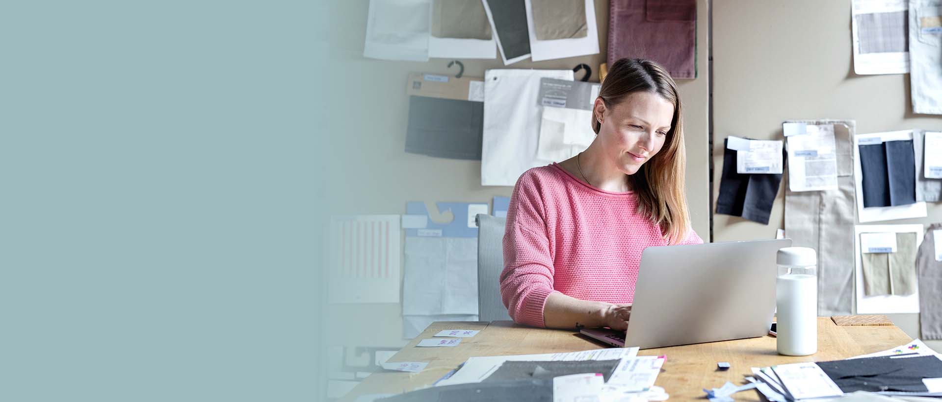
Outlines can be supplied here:
[[[864, 208], [864, 175], [860, 168], [860, 144], [880, 144], [886, 141], [912, 140], [913, 131], [888, 131], [853, 136], [853, 179], [857, 195], [857, 222], [862, 224], [878, 221], [893, 221], [897, 219], [925, 218], [926, 203], [901, 205], [897, 207], [871, 207]], [[918, 172], [917, 172], [918, 174]]]

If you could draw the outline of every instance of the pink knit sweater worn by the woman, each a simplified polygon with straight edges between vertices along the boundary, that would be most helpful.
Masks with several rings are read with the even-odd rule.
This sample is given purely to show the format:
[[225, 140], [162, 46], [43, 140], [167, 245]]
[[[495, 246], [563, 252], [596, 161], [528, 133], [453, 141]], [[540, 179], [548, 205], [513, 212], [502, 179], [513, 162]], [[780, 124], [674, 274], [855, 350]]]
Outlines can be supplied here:
[[[702, 243], [692, 230], [684, 244]], [[553, 292], [629, 303], [642, 250], [666, 245], [638, 213], [633, 192], [592, 187], [553, 163], [528, 170], [513, 188], [504, 234], [500, 293], [514, 321], [544, 327]]]

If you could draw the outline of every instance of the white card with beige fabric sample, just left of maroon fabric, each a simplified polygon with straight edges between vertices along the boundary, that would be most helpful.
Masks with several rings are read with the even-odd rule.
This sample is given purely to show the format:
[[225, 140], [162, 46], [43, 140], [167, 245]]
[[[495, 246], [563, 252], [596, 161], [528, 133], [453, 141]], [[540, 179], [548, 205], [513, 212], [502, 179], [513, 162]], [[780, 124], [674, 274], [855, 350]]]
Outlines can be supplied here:
[[593, 0], [525, 0], [533, 61], [598, 54]]

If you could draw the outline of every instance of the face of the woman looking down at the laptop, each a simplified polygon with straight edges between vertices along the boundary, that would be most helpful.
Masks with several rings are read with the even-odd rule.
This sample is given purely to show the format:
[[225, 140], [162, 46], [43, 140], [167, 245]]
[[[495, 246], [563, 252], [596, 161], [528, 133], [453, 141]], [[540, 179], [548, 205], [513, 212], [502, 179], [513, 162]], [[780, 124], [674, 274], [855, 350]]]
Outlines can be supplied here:
[[611, 107], [597, 98], [594, 113], [596, 119], [602, 117], [598, 140], [603, 153], [622, 173], [634, 175], [664, 146], [674, 119], [674, 103], [656, 93], [633, 92]]

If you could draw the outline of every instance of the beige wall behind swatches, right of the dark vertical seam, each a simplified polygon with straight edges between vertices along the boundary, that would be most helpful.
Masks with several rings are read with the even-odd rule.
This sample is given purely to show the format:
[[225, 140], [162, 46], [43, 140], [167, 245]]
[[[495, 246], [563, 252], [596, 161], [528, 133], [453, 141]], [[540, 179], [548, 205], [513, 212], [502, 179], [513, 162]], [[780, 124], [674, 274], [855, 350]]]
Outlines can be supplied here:
[[[849, 0], [717, 0], [712, 18], [714, 205], [727, 135], [782, 139], [793, 118], [853, 119], [858, 133], [942, 130], [939, 116], [912, 114], [909, 75], [853, 73]], [[774, 238], [783, 206], [780, 188], [768, 225], [716, 214], [713, 240]], [[928, 218], [892, 224], [934, 222], [942, 206], [930, 203]], [[918, 315], [892, 318], [918, 335]]]

